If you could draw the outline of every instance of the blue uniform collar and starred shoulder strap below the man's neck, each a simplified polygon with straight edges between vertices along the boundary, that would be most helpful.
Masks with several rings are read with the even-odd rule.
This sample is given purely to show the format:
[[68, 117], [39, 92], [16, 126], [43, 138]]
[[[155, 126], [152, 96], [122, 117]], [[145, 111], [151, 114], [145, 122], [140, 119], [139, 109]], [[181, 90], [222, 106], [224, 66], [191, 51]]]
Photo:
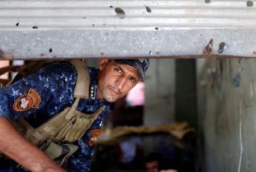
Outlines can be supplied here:
[[[88, 67], [89, 73], [90, 73], [90, 89], [89, 91], [92, 91], [92, 89], [94, 89], [94, 95], [92, 96], [92, 98], [90, 98], [90, 100], [94, 100], [96, 103], [100, 102], [103, 105], [110, 105], [111, 103], [106, 101], [105, 99], [97, 99], [97, 83], [98, 83], [98, 68], [93, 68], [93, 67]], [[94, 87], [91, 89], [91, 87]], [[90, 92], [91, 93], [91, 92]], [[90, 95], [89, 95], [90, 96]]]

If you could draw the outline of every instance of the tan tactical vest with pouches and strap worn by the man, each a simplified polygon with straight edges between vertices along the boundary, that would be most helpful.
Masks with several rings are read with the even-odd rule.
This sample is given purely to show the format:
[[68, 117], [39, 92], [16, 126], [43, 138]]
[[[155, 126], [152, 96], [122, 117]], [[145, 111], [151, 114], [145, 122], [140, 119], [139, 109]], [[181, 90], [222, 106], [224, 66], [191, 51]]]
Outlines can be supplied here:
[[101, 107], [93, 114], [85, 114], [76, 110], [80, 98], [89, 98], [90, 75], [84, 62], [70, 62], [77, 71], [73, 105], [65, 108], [38, 128], [33, 128], [24, 118], [19, 119], [18, 122], [12, 122], [30, 143], [42, 149], [60, 166], [78, 148], [77, 145], [71, 143], [80, 140], [101, 111], [105, 109], [105, 106]]

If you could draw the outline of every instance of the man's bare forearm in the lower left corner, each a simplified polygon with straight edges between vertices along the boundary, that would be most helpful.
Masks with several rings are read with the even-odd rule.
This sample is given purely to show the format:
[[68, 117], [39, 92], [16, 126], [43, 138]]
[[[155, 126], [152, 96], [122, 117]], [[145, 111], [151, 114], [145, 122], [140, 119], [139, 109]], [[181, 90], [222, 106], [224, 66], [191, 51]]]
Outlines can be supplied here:
[[65, 171], [24, 139], [5, 117], [0, 117], [0, 152], [33, 172]]

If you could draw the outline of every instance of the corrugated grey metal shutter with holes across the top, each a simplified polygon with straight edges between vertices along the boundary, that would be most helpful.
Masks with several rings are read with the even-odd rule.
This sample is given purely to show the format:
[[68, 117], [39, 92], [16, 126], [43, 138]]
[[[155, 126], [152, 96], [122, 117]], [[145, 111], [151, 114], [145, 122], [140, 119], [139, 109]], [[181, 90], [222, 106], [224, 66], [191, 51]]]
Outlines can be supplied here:
[[0, 1], [0, 36], [15, 59], [198, 55], [210, 38], [256, 57], [256, 2]]

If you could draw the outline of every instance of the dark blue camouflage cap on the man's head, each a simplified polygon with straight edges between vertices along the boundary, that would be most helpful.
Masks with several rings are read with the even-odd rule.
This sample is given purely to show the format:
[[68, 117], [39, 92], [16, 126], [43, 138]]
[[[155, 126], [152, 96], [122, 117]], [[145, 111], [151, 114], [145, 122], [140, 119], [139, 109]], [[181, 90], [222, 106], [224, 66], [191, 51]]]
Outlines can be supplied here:
[[115, 59], [114, 61], [121, 65], [129, 65], [137, 68], [142, 81], [144, 81], [145, 73], [150, 65], [149, 59]]

